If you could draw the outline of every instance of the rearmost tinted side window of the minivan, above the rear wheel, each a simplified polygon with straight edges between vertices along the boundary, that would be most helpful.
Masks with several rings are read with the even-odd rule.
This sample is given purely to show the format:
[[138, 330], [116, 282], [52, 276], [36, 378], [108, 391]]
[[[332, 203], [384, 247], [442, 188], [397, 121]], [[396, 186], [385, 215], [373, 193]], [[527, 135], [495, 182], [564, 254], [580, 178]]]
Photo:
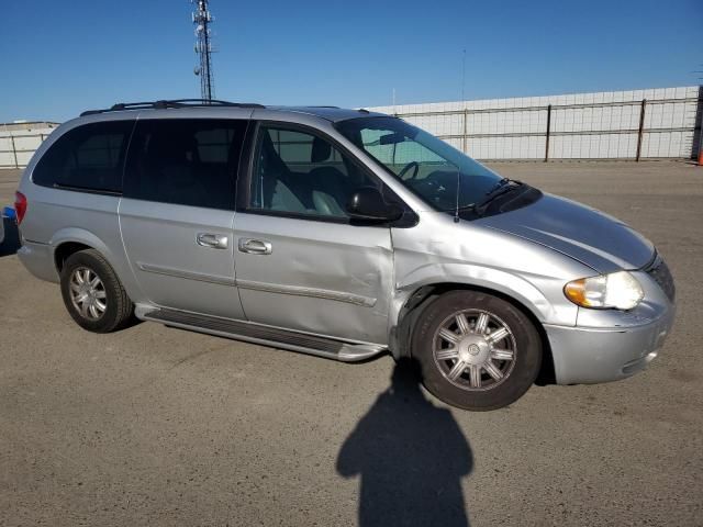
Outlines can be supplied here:
[[62, 135], [32, 179], [44, 187], [122, 192], [122, 169], [134, 121], [90, 123]]

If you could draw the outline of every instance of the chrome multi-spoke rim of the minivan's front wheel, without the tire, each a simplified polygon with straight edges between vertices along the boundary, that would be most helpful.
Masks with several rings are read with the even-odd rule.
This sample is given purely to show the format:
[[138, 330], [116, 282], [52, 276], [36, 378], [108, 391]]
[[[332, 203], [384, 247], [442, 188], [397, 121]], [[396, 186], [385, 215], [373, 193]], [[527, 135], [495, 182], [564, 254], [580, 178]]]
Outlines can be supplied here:
[[433, 338], [433, 357], [451, 384], [486, 391], [513, 371], [517, 346], [507, 324], [481, 310], [457, 312], [439, 324]]

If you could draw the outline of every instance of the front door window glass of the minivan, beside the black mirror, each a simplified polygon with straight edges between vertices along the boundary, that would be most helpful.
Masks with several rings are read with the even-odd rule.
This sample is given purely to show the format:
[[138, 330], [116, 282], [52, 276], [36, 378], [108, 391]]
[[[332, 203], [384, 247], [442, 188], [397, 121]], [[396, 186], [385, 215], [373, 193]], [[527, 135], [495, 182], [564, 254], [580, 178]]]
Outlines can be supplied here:
[[259, 128], [249, 209], [344, 218], [352, 194], [369, 186], [378, 183], [327, 139]]

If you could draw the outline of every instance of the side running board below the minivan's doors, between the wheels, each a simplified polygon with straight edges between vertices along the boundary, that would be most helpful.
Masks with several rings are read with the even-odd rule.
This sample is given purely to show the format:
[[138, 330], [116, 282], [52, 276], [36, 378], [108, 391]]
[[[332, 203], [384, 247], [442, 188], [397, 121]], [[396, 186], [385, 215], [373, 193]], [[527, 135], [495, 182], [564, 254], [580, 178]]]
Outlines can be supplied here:
[[146, 321], [160, 322], [167, 326], [300, 351], [343, 362], [369, 359], [386, 351], [384, 347], [372, 344], [347, 344], [332, 338], [305, 335], [249, 322], [230, 321], [176, 310], [142, 311], [137, 309], [137, 316]]

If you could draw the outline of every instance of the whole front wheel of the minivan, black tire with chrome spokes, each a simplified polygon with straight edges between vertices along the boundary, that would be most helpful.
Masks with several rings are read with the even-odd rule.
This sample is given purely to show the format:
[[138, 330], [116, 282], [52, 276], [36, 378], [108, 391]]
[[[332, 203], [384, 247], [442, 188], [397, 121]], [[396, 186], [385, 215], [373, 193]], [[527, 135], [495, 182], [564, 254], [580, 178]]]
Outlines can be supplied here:
[[[456, 324], [456, 329], [453, 332], [460, 333], [461, 328], [458, 326], [458, 321], [453, 322], [453, 316], [457, 313], [465, 313], [464, 321], [468, 322], [471, 318], [475, 322], [468, 322], [469, 330], [466, 335], [470, 335], [469, 338], [465, 338], [459, 343], [449, 344], [445, 338], [438, 336], [440, 327], [447, 327], [447, 324]], [[503, 327], [510, 330], [507, 337], [504, 340], [496, 340], [492, 344], [490, 339], [491, 329], [488, 324], [494, 324], [496, 329], [500, 326], [499, 322], [487, 322], [488, 329], [482, 336], [484, 340], [481, 341], [480, 347], [470, 346], [471, 338], [480, 339], [479, 333], [476, 330], [476, 325], [479, 325], [480, 313], [487, 313], [484, 321], [499, 321], [503, 323]], [[456, 321], [456, 317], [454, 318]], [[496, 330], [493, 329], [493, 330]], [[450, 329], [451, 330], [451, 329]], [[446, 332], [443, 332], [446, 335]], [[498, 337], [498, 333], [495, 336]], [[454, 338], [454, 337], [451, 337]], [[484, 343], [486, 341], [486, 343]], [[442, 356], [437, 357], [435, 348], [447, 348], [447, 355], [454, 355], [455, 350], [461, 349], [461, 356], [457, 354], [456, 359], [442, 359]], [[471, 371], [467, 366], [466, 370], [461, 370], [461, 366], [457, 365], [461, 357], [466, 360], [479, 360], [481, 357], [494, 357], [492, 354], [501, 354], [499, 347], [509, 348], [507, 354], [514, 347], [513, 359], [501, 360], [498, 358], [491, 358], [488, 365], [492, 371], [493, 366], [503, 369], [503, 378], [495, 374], [500, 380], [495, 379], [492, 374], [489, 374], [488, 370], [483, 370], [483, 366], [478, 365], [478, 377], [480, 378], [473, 385], [475, 380], [471, 378]], [[469, 348], [471, 350], [469, 351]], [[493, 348], [496, 348], [493, 351]], [[420, 315], [412, 337], [412, 356], [420, 362], [423, 384], [433, 393], [437, 399], [444, 401], [453, 406], [458, 406], [464, 410], [471, 411], [489, 411], [496, 410], [517, 401], [535, 382], [539, 369], [542, 367], [542, 351], [543, 345], [539, 337], [539, 333], [535, 328], [532, 321], [515, 305], [512, 303], [493, 296], [488, 293], [479, 291], [451, 291], [438, 296], [432, 301]], [[484, 354], [484, 355], [480, 355]], [[473, 359], [476, 358], [476, 359]], [[467, 362], [462, 362], [467, 363]], [[468, 365], [468, 363], [467, 363]], [[454, 366], [457, 369], [454, 370]], [[471, 367], [473, 368], [473, 367]], [[450, 371], [447, 371], [450, 370]], [[444, 371], [444, 372], [443, 372]], [[454, 381], [451, 372], [462, 371], [459, 377]], [[483, 380], [486, 379], [486, 380]], [[486, 388], [481, 385], [486, 383]]]

